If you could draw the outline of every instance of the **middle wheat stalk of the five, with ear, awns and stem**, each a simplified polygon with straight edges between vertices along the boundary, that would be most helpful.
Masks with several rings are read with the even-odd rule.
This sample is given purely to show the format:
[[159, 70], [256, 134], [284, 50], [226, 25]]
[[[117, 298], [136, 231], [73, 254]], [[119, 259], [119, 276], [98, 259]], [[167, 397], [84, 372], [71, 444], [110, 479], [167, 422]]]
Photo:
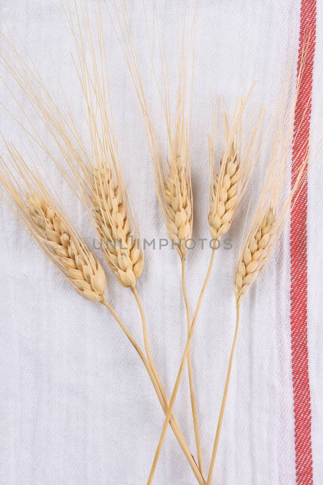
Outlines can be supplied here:
[[[122, 26], [121, 18], [118, 14], [117, 5], [116, 13], [118, 24], [120, 27], [120, 35], [117, 33], [117, 29], [113, 23], [112, 16], [110, 15], [113, 27], [117, 34], [120, 46], [123, 50], [126, 62], [130, 69], [132, 76], [132, 81], [135, 87], [137, 97], [140, 102], [142, 109], [144, 122], [147, 131], [147, 142], [150, 151], [150, 156], [154, 169], [155, 185], [157, 190], [157, 197], [162, 212], [162, 218], [167, 229], [168, 236], [172, 241], [172, 246], [176, 247], [176, 251], [179, 254], [182, 262], [182, 292], [185, 301], [185, 306], [187, 310], [187, 326], [188, 333], [191, 328], [191, 317], [189, 303], [187, 300], [186, 289], [185, 289], [185, 257], [187, 250], [190, 247], [190, 239], [192, 236], [192, 224], [193, 224], [193, 199], [191, 190], [191, 155], [190, 155], [190, 128], [191, 128], [191, 114], [190, 121], [188, 122], [185, 118], [185, 103], [186, 103], [186, 91], [187, 91], [187, 79], [188, 79], [188, 66], [190, 60], [191, 44], [194, 44], [194, 25], [195, 25], [195, 13], [194, 19], [191, 27], [191, 36], [187, 27], [184, 26], [184, 34], [182, 41], [182, 49], [178, 55], [178, 88], [177, 88], [177, 99], [176, 99], [176, 113], [175, 113], [175, 123], [174, 130], [171, 127], [171, 113], [169, 104], [169, 84], [168, 84], [168, 66], [167, 66], [167, 56], [164, 39], [161, 37], [158, 25], [158, 37], [159, 37], [159, 47], [161, 54], [162, 63], [162, 74], [164, 82], [164, 97], [162, 96], [162, 91], [157, 81], [157, 76], [155, 68], [152, 62], [152, 55], [150, 49], [149, 34], [148, 36], [148, 46], [150, 59], [152, 64], [152, 69], [154, 77], [157, 83], [157, 88], [160, 94], [162, 108], [165, 116], [168, 145], [169, 145], [169, 160], [167, 157], [167, 163], [165, 162], [165, 157], [162, 154], [162, 149], [159, 144], [158, 136], [156, 135], [147, 108], [147, 103], [145, 99], [145, 94], [143, 90], [143, 85], [140, 76], [140, 68], [137, 61], [136, 50], [133, 42], [131, 26], [129, 22], [129, 17], [127, 13], [127, 8], [124, 1], [120, 1], [121, 7], [121, 18], [123, 19], [124, 28]], [[145, 5], [144, 5], [145, 10]], [[157, 16], [157, 12], [156, 12]], [[186, 17], [186, 12], [185, 12]], [[145, 10], [146, 18], [146, 10]], [[146, 18], [147, 21], [147, 18]], [[158, 17], [157, 17], [158, 24]], [[163, 44], [163, 54], [164, 63], [162, 59], [162, 44]], [[192, 48], [192, 78], [193, 78], [193, 51]], [[180, 81], [180, 65], [182, 66], [182, 84]], [[167, 78], [167, 81], [166, 81]], [[191, 111], [191, 109], [190, 109]], [[173, 134], [172, 134], [173, 132]], [[189, 383], [190, 383], [190, 394], [191, 394], [191, 406], [192, 406], [192, 416], [194, 424], [194, 434], [195, 443], [198, 457], [199, 470], [201, 472], [202, 478], [204, 477], [203, 469], [203, 459], [202, 450], [200, 444], [199, 428], [197, 422], [197, 411], [194, 396], [193, 387], [193, 377], [191, 370], [191, 353], [188, 353], [188, 373], [189, 373]], [[152, 475], [149, 475], [148, 483], [152, 480]]]

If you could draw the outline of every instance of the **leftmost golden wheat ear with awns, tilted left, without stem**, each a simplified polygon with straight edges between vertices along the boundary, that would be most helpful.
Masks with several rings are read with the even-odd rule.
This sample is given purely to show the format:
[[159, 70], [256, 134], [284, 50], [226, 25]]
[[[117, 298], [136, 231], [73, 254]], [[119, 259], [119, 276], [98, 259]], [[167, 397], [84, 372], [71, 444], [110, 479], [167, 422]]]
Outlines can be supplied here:
[[41, 178], [32, 175], [13, 145], [5, 145], [10, 164], [0, 156], [2, 199], [75, 291], [103, 303], [106, 276], [100, 261], [68, 222]]

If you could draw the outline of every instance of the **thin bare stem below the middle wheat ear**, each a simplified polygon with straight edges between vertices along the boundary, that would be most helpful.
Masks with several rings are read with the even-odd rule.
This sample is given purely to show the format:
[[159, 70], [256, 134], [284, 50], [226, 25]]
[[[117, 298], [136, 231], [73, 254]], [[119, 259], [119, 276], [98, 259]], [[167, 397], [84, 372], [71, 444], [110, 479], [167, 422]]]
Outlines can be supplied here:
[[[191, 312], [190, 312], [190, 305], [187, 298], [186, 287], [185, 287], [185, 258], [181, 259], [181, 262], [182, 262], [182, 291], [183, 291], [183, 297], [184, 297], [185, 306], [186, 306], [187, 334], [189, 335], [190, 329], [191, 329]], [[195, 403], [195, 395], [194, 395], [193, 373], [192, 373], [192, 364], [191, 364], [191, 345], [189, 348], [189, 352], [187, 354], [187, 368], [189, 372], [191, 406], [192, 406], [197, 459], [198, 459], [199, 469], [202, 473], [202, 476], [204, 477], [202, 450], [201, 450], [199, 426], [198, 426], [198, 420], [197, 420], [196, 403]]]

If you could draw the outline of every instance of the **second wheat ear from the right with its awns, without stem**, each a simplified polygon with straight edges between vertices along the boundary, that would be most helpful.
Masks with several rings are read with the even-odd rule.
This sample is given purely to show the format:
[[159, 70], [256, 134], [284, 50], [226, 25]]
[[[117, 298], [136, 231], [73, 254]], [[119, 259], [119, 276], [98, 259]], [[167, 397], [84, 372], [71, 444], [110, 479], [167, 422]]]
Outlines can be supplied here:
[[[243, 127], [243, 114], [253, 87], [254, 84], [246, 98], [237, 98], [234, 122], [230, 128], [224, 112], [224, 137], [220, 169], [218, 170], [215, 156], [216, 116], [213, 118], [212, 123], [212, 137], [208, 136], [210, 168], [208, 223], [212, 239], [214, 240], [219, 240], [229, 230], [259, 155], [259, 151], [256, 152], [257, 133], [261, 126], [264, 109], [260, 110], [255, 128], [249, 137], [247, 136], [247, 130], [249, 129], [250, 119], [246, 122], [246, 126]], [[247, 140], [242, 150], [243, 137], [247, 138]]]

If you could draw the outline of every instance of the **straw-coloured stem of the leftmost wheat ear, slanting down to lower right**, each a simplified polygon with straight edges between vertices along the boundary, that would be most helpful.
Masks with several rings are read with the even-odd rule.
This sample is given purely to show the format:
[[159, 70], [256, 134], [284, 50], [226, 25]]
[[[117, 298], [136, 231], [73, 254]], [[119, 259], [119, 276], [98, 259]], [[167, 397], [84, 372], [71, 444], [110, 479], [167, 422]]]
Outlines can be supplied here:
[[[144, 363], [144, 366], [146, 367], [146, 370], [148, 372], [148, 375], [150, 377], [150, 380], [154, 386], [154, 389], [156, 391], [156, 394], [157, 394], [157, 397], [158, 397], [158, 400], [159, 402], [161, 403], [161, 406], [162, 406], [162, 410], [163, 412], [167, 413], [167, 410], [168, 410], [168, 399], [167, 399], [167, 396], [166, 396], [166, 399], [164, 398], [163, 396], [163, 392], [164, 389], [162, 387], [160, 387], [160, 380], [159, 380], [159, 377], [156, 378], [154, 372], [152, 371], [150, 365], [149, 365], [149, 362], [147, 360], [147, 358], [145, 357], [143, 351], [141, 350], [141, 348], [139, 347], [139, 345], [137, 344], [137, 342], [135, 341], [135, 339], [132, 337], [131, 333], [129, 332], [129, 330], [127, 329], [127, 327], [124, 325], [124, 323], [122, 322], [122, 320], [119, 318], [119, 316], [117, 315], [117, 313], [115, 312], [115, 310], [111, 307], [111, 305], [106, 301], [104, 300], [103, 301], [103, 305], [111, 312], [111, 314], [113, 315], [113, 317], [116, 319], [117, 323], [120, 325], [121, 329], [123, 330], [123, 332], [125, 333], [125, 335], [127, 336], [127, 338], [130, 340], [130, 342], [132, 343], [134, 349], [136, 350], [136, 352], [138, 353], [139, 357], [141, 358], [141, 360], [143, 361]], [[163, 391], [163, 392], [162, 392]], [[200, 470], [198, 469], [198, 466], [197, 464], [195, 463], [194, 461], [194, 458], [193, 456], [191, 455], [191, 451], [189, 449], [189, 446], [188, 444], [186, 443], [185, 441], [185, 438], [184, 438], [184, 435], [183, 433], [181, 432], [180, 428], [179, 428], [179, 425], [175, 419], [175, 416], [174, 414], [172, 413], [172, 417], [171, 417], [171, 420], [170, 420], [170, 425], [171, 425], [171, 428], [177, 438], [177, 441], [179, 442], [185, 456], [187, 457], [190, 465], [191, 465], [191, 469], [193, 470], [193, 473], [198, 481], [198, 483], [200, 485], [206, 485], [206, 482], [204, 480], [204, 478], [202, 477], [201, 475], [201, 472]]]

